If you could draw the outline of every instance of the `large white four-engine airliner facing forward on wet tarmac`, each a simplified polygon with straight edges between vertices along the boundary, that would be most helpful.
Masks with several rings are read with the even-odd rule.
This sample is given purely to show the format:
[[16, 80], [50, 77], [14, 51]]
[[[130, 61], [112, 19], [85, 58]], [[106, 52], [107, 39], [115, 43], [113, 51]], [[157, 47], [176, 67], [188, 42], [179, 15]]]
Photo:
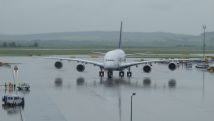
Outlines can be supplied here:
[[[49, 59], [57, 59], [59, 61], [55, 62], [55, 67], [57, 69], [62, 68], [62, 60], [67, 61], [76, 61], [81, 64], [78, 64], [76, 69], [79, 72], [82, 72], [85, 70], [85, 64], [92, 64], [95, 66], [100, 67], [99, 76], [104, 77], [104, 70], [107, 71], [108, 78], [112, 78], [113, 71], [119, 71], [119, 76], [124, 77], [124, 70], [128, 69], [127, 71], [127, 77], [132, 76], [132, 72], [130, 71], [130, 68], [132, 66], [137, 66], [140, 64], [145, 64], [143, 67], [143, 71], [146, 73], [149, 73], [151, 71], [151, 65], [149, 63], [153, 62], [169, 62], [168, 68], [170, 70], [175, 70], [177, 66], [178, 59], [171, 59], [171, 60], [149, 60], [149, 61], [139, 61], [139, 62], [126, 62], [126, 54], [121, 49], [121, 42], [122, 42], [122, 22], [120, 27], [120, 39], [119, 39], [119, 46], [118, 49], [108, 51], [105, 56], [103, 62], [96, 62], [96, 61], [90, 61], [90, 60], [83, 60], [78, 58], [59, 58], [59, 57], [48, 57]], [[179, 59], [179, 60], [187, 60], [187, 59]]]

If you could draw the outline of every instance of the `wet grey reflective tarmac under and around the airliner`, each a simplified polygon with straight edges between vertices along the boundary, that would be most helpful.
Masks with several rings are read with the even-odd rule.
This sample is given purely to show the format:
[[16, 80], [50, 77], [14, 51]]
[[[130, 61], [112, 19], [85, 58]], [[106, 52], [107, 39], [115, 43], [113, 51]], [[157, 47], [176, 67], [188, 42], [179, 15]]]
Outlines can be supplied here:
[[[102, 61], [102, 58], [87, 58]], [[4, 62], [21, 62], [16, 83], [27, 82], [30, 92], [24, 107], [0, 107], [0, 121], [213, 121], [214, 74], [180, 66], [153, 64], [151, 73], [132, 67], [132, 78], [98, 77], [99, 68], [86, 65], [82, 73], [75, 62], [54, 68], [54, 60], [42, 57], [0, 57]], [[135, 58], [127, 61], [137, 60]], [[13, 82], [13, 70], [0, 68], [0, 85]], [[169, 84], [169, 81], [171, 83]], [[171, 85], [172, 84], [172, 85]], [[12, 93], [0, 87], [0, 97]], [[22, 115], [22, 117], [21, 117]]]

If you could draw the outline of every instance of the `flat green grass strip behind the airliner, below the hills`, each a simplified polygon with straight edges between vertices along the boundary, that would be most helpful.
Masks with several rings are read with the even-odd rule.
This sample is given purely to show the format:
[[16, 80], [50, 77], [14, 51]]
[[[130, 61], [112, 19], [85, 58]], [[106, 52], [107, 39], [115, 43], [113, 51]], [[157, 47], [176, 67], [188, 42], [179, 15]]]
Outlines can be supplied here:
[[[95, 52], [105, 53], [113, 48], [108, 49], [94, 49], [94, 48], [80, 48], [80, 49], [44, 49], [44, 48], [10, 48], [0, 49], [0, 56], [43, 56], [43, 55], [95, 55]], [[190, 54], [203, 53], [202, 50], [184, 49], [184, 48], [125, 48], [127, 54], [132, 57], [157, 57], [157, 58], [188, 58], [194, 57]], [[137, 54], [136, 54], [137, 53]], [[206, 53], [213, 54], [214, 50], [206, 50]]]

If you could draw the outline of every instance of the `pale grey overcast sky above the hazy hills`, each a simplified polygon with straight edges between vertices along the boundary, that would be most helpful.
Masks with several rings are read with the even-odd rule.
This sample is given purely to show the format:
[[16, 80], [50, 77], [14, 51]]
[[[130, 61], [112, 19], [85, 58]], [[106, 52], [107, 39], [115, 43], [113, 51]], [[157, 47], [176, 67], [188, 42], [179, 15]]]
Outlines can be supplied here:
[[214, 31], [214, 0], [0, 0], [0, 34]]

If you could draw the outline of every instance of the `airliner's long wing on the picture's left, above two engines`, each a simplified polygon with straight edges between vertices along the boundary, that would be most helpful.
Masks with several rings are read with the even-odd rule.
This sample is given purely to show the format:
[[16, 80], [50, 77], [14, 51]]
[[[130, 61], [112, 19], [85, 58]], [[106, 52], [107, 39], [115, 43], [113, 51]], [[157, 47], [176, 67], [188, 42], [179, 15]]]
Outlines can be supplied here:
[[60, 57], [46, 57], [47, 59], [56, 59], [56, 60], [65, 60], [65, 61], [75, 61], [78, 63], [84, 63], [84, 64], [92, 64], [95, 66], [99, 66], [99, 67], [104, 67], [104, 64], [101, 62], [96, 62], [96, 61], [90, 61], [90, 60], [84, 60], [84, 59], [79, 59], [79, 58], [60, 58]]

